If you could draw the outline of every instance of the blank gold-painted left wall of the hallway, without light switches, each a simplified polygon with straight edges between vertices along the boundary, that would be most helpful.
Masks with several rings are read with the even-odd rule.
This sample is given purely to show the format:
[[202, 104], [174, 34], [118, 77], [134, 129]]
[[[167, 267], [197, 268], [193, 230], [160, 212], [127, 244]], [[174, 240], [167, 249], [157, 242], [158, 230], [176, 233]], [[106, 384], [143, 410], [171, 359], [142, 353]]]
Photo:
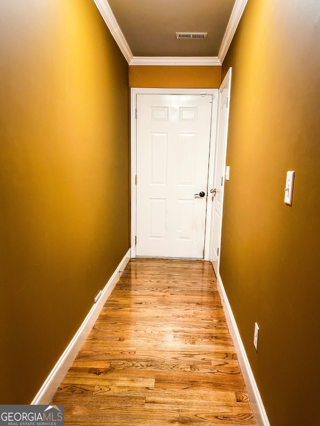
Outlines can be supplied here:
[[29, 404], [129, 248], [128, 65], [91, 0], [0, 16], [0, 402]]

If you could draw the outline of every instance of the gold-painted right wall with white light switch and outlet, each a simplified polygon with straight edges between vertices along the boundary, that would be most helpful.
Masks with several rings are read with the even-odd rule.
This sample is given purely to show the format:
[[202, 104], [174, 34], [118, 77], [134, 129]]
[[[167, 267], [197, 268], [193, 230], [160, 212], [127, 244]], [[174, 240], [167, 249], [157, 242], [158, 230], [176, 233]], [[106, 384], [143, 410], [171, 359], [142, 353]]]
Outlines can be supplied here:
[[319, 16], [318, 0], [248, 0], [222, 66], [232, 82], [220, 274], [272, 426], [319, 423]]

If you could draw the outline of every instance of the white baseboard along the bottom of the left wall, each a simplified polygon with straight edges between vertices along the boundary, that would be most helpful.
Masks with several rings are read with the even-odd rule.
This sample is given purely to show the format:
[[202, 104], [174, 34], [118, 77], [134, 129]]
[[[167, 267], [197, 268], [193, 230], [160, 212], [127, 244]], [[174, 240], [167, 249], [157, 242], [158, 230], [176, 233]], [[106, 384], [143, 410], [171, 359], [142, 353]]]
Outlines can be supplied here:
[[33, 398], [31, 405], [49, 404], [56, 390], [58, 389], [60, 383], [62, 382], [64, 376], [66, 375], [67, 371], [71, 367], [71, 364], [74, 358], [76, 357], [77, 353], [79, 352], [81, 346], [83, 345], [87, 335], [91, 331], [97, 317], [99, 316], [101, 309], [103, 308], [103, 305], [107, 301], [107, 298], [109, 297], [111, 291], [113, 290], [115, 284], [117, 283], [119, 279], [119, 272], [123, 271], [123, 269], [125, 268], [129, 260], [130, 260], [130, 249], [127, 251], [123, 259], [119, 263], [112, 277], [106, 283], [98, 301], [92, 306], [89, 313], [85, 317], [83, 323], [81, 324], [80, 328], [75, 333], [73, 339], [66, 347], [65, 351], [63, 352], [60, 359], [53, 367], [48, 377], [45, 379], [38, 393]]

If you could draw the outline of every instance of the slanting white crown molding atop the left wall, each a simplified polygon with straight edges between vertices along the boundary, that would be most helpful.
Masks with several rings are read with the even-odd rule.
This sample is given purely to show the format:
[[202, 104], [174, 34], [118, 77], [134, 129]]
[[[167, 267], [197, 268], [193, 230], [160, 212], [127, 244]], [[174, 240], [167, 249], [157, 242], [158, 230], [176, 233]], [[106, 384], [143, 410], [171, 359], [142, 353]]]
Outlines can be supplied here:
[[96, 7], [98, 8], [104, 22], [106, 23], [107, 27], [109, 28], [114, 40], [116, 41], [117, 45], [119, 46], [123, 56], [125, 57], [127, 63], [129, 63], [132, 60], [132, 52], [130, 50], [130, 47], [128, 43], [126, 42], [126, 39], [124, 38], [124, 35], [122, 34], [122, 31], [112, 13], [112, 10], [110, 9], [109, 3], [106, 0], [93, 0]]

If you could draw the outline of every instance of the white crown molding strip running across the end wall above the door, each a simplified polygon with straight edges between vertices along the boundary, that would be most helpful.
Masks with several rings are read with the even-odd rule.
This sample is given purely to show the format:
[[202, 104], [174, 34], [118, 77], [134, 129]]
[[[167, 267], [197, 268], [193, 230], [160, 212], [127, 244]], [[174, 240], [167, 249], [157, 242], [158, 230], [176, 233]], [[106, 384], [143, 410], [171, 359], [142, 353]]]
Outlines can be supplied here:
[[217, 56], [133, 56], [129, 65], [221, 65]]

